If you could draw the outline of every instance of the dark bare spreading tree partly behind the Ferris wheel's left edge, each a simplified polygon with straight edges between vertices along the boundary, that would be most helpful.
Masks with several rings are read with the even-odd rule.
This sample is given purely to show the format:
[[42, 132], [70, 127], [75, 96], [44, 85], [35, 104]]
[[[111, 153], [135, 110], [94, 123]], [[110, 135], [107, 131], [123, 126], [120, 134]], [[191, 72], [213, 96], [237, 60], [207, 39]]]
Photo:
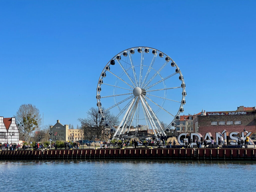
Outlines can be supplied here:
[[[103, 109], [104, 111], [104, 109]], [[112, 126], [118, 124], [118, 118], [111, 114], [109, 111], [104, 112], [106, 119]], [[104, 140], [110, 135], [110, 128], [105, 127], [105, 121], [101, 120], [98, 108], [90, 108], [87, 112], [87, 118], [78, 118], [83, 124], [84, 138], [89, 140]]]

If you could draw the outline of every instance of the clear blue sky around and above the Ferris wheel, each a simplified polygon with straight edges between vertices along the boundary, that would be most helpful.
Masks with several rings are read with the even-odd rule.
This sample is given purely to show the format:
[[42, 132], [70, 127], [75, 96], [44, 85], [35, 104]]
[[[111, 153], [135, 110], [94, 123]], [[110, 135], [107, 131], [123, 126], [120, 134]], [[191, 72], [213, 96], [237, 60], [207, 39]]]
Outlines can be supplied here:
[[184, 114], [255, 106], [256, 1], [1, 1], [0, 116], [80, 123], [106, 63], [149, 46], [178, 64]]

